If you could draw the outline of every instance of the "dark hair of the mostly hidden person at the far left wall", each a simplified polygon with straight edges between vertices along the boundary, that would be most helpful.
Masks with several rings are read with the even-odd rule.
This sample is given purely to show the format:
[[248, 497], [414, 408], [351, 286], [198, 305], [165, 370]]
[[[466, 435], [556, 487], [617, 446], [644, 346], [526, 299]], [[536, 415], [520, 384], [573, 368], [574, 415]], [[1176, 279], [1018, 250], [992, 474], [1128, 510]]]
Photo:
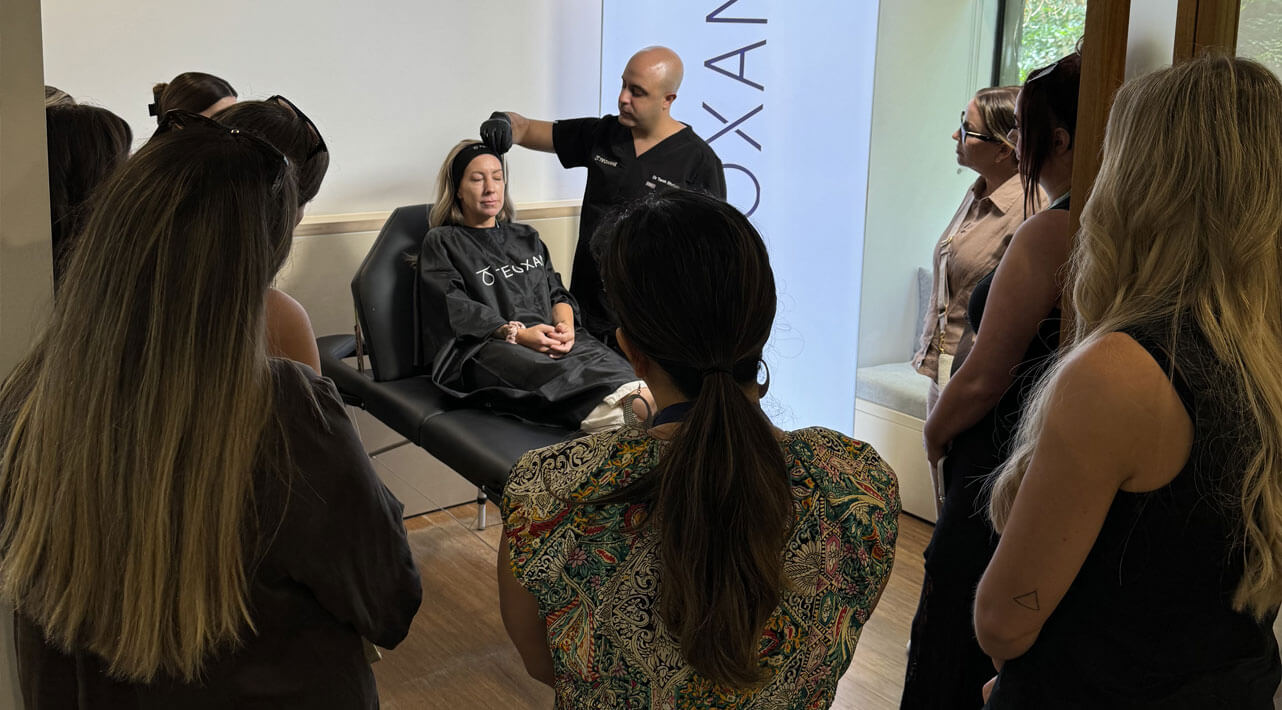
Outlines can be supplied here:
[[129, 156], [133, 132], [123, 118], [97, 106], [45, 108], [49, 145], [49, 222], [54, 242], [54, 283], [87, 222], [97, 187]]

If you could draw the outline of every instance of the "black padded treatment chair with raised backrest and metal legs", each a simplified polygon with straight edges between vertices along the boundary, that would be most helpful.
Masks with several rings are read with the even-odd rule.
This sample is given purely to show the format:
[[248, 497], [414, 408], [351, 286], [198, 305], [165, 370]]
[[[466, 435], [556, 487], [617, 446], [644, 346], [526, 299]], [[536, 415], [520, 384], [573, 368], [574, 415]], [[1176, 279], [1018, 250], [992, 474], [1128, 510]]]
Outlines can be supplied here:
[[[356, 276], [351, 296], [356, 333], [317, 338], [322, 373], [344, 401], [423, 447], [477, 486], [477, 527], [485, 527], [486, 496], [499, 497], [508, 472], [526, 451], [577, 436], [487, 409], [469, 409], [414, 369], [415, 305], [409, 258], [427, 235], [431, 205], [397, 208], [383, 224]], [[362, 347], [358, 349], [358, 338]], [[355, 358], [355, 364], [351, 359]], [[365, 368], [365, 358], [369, 367]], [[382, 454], [396, 446], [370, 451]]]

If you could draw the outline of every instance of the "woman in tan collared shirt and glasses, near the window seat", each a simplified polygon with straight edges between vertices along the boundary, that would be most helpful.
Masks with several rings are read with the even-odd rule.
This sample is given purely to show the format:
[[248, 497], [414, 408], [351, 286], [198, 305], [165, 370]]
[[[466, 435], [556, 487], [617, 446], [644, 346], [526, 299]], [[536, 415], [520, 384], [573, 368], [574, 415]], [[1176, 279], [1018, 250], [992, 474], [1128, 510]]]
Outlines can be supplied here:
[[927, 414], [951, 376], [954, 358], [970, 350], [973, 333], [965, 322], [970, 291], [997, 267], [1015, 228], [1024, 220], [1015, 144], [1008, 137], [1015, 127], [1018, 94], [1018, 86], [981, 88], [962, 111], [962, 126], [953, 133], [958, 165], [979, 177], [935, 245], [931, 300], [922, 342], [913, 356], [917, 372], [931, 378]]

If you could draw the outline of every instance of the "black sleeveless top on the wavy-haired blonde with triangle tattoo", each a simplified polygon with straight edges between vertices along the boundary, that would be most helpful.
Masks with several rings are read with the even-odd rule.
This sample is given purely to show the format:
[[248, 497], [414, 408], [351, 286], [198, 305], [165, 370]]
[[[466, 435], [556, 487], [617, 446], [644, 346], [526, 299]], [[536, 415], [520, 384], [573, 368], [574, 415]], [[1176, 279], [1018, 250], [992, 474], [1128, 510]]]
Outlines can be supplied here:
[[1238, 486], [1259, 441], [1245, 397], [1191, 318], [1126, 332], [1172, 373], [1194, 422], [1188, 461], [1161, 488], [1118, 491], [988, 707], [1272, 709], [1277, 610], [1256, 622], [1232, 609], [1244, 574]]

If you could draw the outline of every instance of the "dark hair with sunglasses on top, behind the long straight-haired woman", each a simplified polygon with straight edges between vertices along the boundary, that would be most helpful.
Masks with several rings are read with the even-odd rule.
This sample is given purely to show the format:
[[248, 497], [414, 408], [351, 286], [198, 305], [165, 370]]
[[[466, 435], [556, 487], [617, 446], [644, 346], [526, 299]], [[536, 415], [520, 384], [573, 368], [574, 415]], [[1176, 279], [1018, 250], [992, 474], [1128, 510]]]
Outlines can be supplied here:
[[214, 117], [229, 128], [258, 133], [283, 153], [297, 169], [299, 206], [312, 201], [329, 170], [329, 151], [320, 150], [320, 133], [292, 109], [277, 101], [240, 101]]

